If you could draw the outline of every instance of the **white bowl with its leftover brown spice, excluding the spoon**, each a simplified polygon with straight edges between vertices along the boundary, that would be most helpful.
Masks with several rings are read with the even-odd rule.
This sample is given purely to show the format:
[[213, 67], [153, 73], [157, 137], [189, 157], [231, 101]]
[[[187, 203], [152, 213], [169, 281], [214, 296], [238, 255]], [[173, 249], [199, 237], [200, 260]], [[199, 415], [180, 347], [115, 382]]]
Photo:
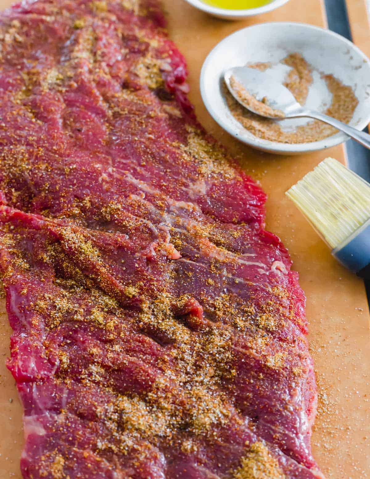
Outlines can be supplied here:
[[[347, 137], [311, 118], [273, 120], [244, 108], [223, 81], [224, 71], [244, 65], [273, 75], [311, 110], [358, 129], [370, 121], [370, 61], [351, 42], [303, 23], [254, 25], [219, 43], [201, 74], [202, 98], [209, 113], [231, 135], [254, 148], [294, 154], [329, 148]], [[240, 95], [244, 96], [243, 90]]]

